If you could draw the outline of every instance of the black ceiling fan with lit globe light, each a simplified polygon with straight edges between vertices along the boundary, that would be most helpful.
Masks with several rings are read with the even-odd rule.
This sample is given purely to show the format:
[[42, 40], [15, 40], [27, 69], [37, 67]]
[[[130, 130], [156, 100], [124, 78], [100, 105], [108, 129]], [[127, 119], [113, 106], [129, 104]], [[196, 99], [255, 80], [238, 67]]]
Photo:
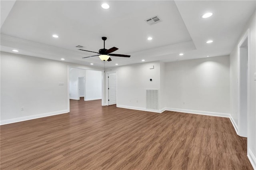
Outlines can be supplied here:
[[[102, 40], [104, 41], [104, 48], [102, 49], [99, 49], [99, 52], [94, 52], [94, 51], [89, 51], [89, 52], [92, 52], [92, 53], [98, 53], [98, 55], [92, 55], [92, 56], [89, 56], [89, 57], [95, 57], [95, 56], [99, 56], [101, 60], [103, 61], [112, 61], [112, 59], [110, 58], [110, 56], [116, 56], [116, 57], [130, 57], [130, 55], [124, 55], [124, 54], [110, 54], [116, 50], [118, 50], [117, 47], [112, 47], [110, 49], [106, 49], [105, 48], [105, 41], [107, 40], [106, 37], [102, 37]], [[82, 50], [82, 51], [88, 51], [88, 50], [84, 50], [84, 49], [79, 49], [79, 50]], [[88, 58], [88, 57], [83, 57], [83, 58]]]

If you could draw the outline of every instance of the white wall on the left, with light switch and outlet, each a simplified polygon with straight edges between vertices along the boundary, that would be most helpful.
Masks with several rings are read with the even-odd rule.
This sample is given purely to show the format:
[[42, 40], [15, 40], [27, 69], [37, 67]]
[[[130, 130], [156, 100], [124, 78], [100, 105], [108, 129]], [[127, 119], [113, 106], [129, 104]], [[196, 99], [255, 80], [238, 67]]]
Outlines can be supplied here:
[[1, 124], [69, 112], [67, 83], [63, 62], [1, 52]]

